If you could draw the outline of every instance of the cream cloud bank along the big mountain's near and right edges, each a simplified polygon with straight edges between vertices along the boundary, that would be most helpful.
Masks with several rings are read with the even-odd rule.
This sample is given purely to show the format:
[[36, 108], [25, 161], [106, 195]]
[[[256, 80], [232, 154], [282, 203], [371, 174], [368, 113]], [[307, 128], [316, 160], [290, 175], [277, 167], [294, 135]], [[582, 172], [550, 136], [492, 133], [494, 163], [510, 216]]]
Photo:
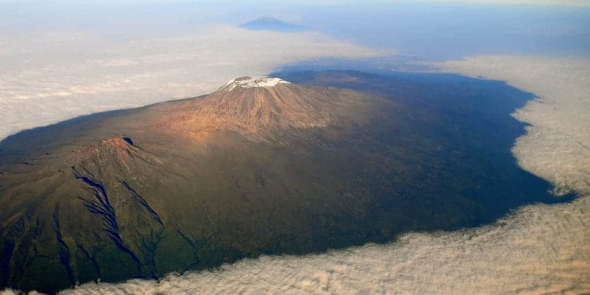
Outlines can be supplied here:
[[523, 57], [437, 65], [537, 93], [539, 100], [515, 113], [532, 126], [514, 152], [521, 165], [553, 181], [559, 192], [578, 192], [574, 202], [525, 206], [483, 228], [412, 233], [391, 244], [327, 254], [245, 259], [160, 282], [83, 284], [63, 294], [590, 292], [589, 65]]

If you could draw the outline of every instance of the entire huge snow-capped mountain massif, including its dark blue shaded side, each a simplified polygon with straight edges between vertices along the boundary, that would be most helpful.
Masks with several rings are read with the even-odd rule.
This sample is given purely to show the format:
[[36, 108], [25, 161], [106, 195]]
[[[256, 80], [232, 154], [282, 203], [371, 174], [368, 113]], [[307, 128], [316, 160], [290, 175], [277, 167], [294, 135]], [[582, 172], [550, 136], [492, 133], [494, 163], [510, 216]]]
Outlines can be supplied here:
[[428, 77], [242, 77], [6, 138], [0, 287], [162, 277], [555, 202], [511, 156], [523, 93]]

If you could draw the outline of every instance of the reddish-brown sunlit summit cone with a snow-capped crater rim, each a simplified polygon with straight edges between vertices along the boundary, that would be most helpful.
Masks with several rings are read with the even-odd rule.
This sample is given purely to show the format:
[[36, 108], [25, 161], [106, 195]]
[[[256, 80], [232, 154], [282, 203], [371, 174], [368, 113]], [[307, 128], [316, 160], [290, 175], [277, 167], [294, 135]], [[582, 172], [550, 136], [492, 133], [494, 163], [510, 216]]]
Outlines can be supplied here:
[[277, 78], [230, 81], [215, 93], [169, 105], [151, 127], [202, 139], [216, 131], [235, 131], [265, 140], [294, 129], [327, 127], [336, 119], [362, 120], [367, 102], [353, 91], [303, 87]]

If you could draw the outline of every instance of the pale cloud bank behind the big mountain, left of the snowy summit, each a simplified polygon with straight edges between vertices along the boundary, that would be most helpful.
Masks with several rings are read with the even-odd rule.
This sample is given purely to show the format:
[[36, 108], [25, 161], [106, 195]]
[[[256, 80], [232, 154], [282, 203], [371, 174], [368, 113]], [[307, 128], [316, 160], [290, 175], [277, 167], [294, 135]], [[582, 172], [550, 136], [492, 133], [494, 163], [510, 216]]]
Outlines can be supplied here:
[[176, 37], [44, 32], [0, 36], [0, 140], [82, 114], [138, 107], [214, 91], [229, 79], [321, 57], [374, 51], [313, 32], [230, 26]]

